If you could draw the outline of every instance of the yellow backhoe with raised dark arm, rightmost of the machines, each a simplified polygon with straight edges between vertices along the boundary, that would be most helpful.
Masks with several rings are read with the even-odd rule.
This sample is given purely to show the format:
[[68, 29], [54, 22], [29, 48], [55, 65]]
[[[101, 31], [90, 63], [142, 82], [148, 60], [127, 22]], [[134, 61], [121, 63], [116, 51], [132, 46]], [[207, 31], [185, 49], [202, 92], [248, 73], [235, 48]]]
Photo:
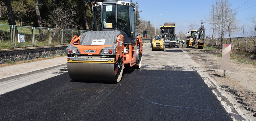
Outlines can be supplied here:
[[187, 38], [186, 38], [187, 48], [197, 46], [197, 48], [203, 49], [204, 39], [205, 39], [205, 28], [202, 21], [201, 27], [198, 30], [187, 31]]

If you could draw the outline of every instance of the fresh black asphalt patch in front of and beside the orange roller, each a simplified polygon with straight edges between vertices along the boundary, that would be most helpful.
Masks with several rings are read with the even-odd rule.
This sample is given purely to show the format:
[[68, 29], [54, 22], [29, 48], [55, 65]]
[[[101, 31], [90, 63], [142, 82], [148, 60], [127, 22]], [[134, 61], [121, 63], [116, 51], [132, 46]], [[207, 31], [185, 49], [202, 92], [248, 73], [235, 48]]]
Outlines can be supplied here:
[[0, 120], [232, 120], [196, 71], [124, 70], [117, 84], [68, 73], [0, 95]]

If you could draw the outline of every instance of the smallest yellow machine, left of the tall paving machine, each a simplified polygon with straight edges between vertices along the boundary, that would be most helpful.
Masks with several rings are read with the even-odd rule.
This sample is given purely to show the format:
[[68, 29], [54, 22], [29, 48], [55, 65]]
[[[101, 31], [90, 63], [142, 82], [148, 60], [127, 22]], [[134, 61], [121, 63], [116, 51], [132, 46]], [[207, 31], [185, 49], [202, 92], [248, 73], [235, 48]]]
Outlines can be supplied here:
[[155, 51], [155, 50], [162, 50], [162, 51], [165, 50], [165, 43], [163, 42], [163, 38], [161, 35], [157, 35], [153, 39], [152, 51]]

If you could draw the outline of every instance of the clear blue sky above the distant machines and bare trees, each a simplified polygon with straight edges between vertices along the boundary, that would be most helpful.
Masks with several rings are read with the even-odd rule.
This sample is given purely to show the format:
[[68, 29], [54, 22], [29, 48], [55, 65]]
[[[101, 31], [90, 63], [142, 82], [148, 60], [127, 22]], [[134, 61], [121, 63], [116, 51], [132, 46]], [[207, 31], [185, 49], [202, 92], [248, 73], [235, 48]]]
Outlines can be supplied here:
[[[135, 1], [135, 0], [133, 0]], [[196, 22], [198, 28], [201, 25], [201, 20], [204, 22], [204, 27], [206, 28], [206, 35], [211, 34], [210, 25], [206, 23], [205, 16], [209, 13], [210, 5], [215, 0], [136, 0], [140, 6], [139, 10], [140, 18], [144, 20], [150, 20], [151, 24], [155, 26], [155, 16], [156, 26], [159, 28], [164, 22], [175, 22], [176, 32], [182, 30], [184, 33], [187, 31], [187, 26], [189, 22]], [[237, 19], [248, 19], [250, 15], [256, 16], [256, 0], [229, 0], [232, 3], [233, 8], [237, 8], [238, 14]], [[246, 3], [245, 3], [246, 2]], [[245, 3], [245, 4], [244, 4]], [[250, 3], [250, 4], [249, 4]], [[242, 5], [244, 4], [244, 5]], [[248, 4], [248, 5], [247, 5]], [[241, 5], [241, 6], [240, 6]], [[240, 7], [239, 7], [240, 6]], [[253, 6], [253, 7], [252, 7]], [[251, 8], [249, 8], [251, 7]], [[247, 8], [247, 9], [246, 9]], [[249, 17], [248, 17], [249, 16]], [[247, 17], [247, 18], [246, 18]], [[249, 32], [250, 20], [242, 20], [240, 22], [240, 27], [245, 24], [245, 35]], [[234, 33], [234, 37], [242, 36], [243, 30], [239, 33]]]

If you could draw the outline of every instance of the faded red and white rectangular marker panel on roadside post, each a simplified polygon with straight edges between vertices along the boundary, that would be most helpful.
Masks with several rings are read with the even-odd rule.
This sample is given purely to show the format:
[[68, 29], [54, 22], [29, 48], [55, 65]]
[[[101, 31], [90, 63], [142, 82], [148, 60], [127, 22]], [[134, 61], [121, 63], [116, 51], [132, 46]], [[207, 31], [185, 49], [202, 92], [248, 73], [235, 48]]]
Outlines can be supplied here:
[[222, 59], [221, 59], [222, 70], [229, 70], [230, 53], [231, 53], [231, 44], [223, 44]]

